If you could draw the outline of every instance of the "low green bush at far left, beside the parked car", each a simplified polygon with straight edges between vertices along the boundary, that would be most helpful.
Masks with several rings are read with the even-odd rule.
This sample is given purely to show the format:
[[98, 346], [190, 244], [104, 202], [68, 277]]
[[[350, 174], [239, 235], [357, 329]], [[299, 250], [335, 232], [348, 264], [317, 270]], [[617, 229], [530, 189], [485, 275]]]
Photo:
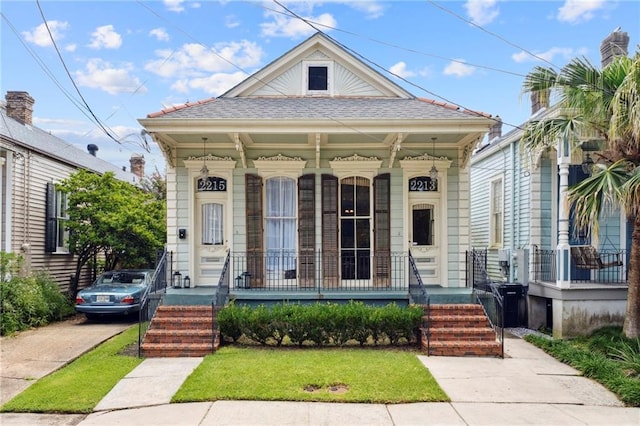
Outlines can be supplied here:
[[61, 320], [74, 312], [73, 303], [46, 274], [0, 281], [0, 298], [3, 336]]

